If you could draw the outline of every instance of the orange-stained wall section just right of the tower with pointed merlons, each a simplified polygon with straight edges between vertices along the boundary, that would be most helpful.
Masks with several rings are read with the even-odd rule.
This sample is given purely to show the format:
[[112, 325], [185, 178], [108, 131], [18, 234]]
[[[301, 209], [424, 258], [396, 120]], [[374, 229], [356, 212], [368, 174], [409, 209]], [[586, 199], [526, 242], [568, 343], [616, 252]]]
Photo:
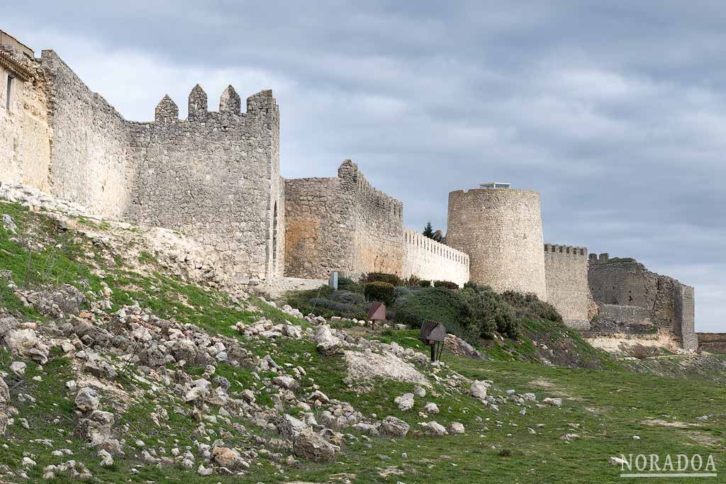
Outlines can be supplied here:
[[285, 275], [403, 273], [403, 204], [374, 189], [351, 160], [337, 178], [285, 180]]

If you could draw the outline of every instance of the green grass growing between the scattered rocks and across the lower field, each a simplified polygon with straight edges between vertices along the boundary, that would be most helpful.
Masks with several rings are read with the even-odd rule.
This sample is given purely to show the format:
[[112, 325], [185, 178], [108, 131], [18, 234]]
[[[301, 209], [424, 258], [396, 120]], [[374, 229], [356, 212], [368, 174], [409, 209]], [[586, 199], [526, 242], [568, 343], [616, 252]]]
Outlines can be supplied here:
[[[307, 327], [304, 321], [287, 316], [259, 299], [237, 303], [222, 292], [197, 287], [179, 277], [164, 274], [151, 259], [147, 262], [153, 266], [152, 271], [132, 270], [132, 266], [117, 254], [94, 246], [75, 232], [63, 231], [41, 214], [29, 213], [15, 204], [1, 204], [0, 208], [2, 213], [13, 216], [23, 234], [28, 234], [28, 239], [43, 242], [29, 255], [17, 237], [0, 230], [0, 266], [10, 268], [14, 281], [20, 286], [47, 287], [68, 283], [77, 287], [87, 285], [98, 291], [105, 281], [113, 289], [110, 298], [115, 308], [138, 301], [142, 307], [152, 308], [157, 316], [195, 324], [212, 334], [236, 337], [251, 352], [258, 356], [269, 354], [280, 365], [303, 366], [307, 377], [302, 379], [303, 387], [298, 390], [300, 395], [317, 384], [330, 398], [351, 403], [364, 415], [376, 414], [382, 418], [391, 414], [412, 425], [412, 432], [402, 439], [364, 438], [358, 432], [351, 432], [357, 440], [347, 443], [344, 453], [333, 463], [316, 464], [302, 460], [298, 465], [280, 464], [278, 468], [262, 458], [256, 459], [249, 474], [242, 477], [200, 477], [196, 466], [203, 461], [198, 456], [192, 470], [182, 469], [176, 464], [163, 467], [144, 465], [134, 444], [136, 438], [144, 440], [147, 446], [166, 448], [166, 455], [175, 445], [183, 451], [184, 446], [195, 448], [195, 440], [207, 440], [196, 432], [199, 422], [175, 411], [182, 409], [187, 412], [191, 408], [189, 405], [181, 402], [163, 385], [143, 384], [129, 372], [112, 383], [129, 392], [129, 401], [114, 401], [113, 395], [107, 395], [102, 406], [115, 412], [116, 428], [129, 427], [123, 435], [126, 438], [126, 457], [115, 456], [115, 466], [105, 469], [99, 466], [97, 452], [73, 435], [79, 416], [73, 404], [75, 395], [69, 395], [65, 387], [65, 381], [73, 378], [71, 361], [70, 357], [53, 350], [49, 363], [42, 369], [26, 361], [28, 371], [25, 377], [11, 375], [6, 378], [12, 388], [12, 402], [18, 409], [18, 415], [15, 416], [16, 423], [4, 435], [2, 443], [7, 447], [0, 446], [0, 464], [9, 466], [13, 472], [20, 472], [23, 453], [29, 453], [38, 462], [36, 467], [28, 470], [29, 480], [4, 476], [9, 482], [42, 482], [41, 471], [45, 465], [68, 459], [83, 462], [94, 477], [105, 483], [226, 484], [293, 480], [325, 483], [345, 478], [354, 483], [401, 481], [407, 484], [621, 483], [624, 481], [618, 476], [619, 467], [609, 464], [608, 458], [641, 453], [661, 456], [666, 453], [713, 454], [717, 469], [724, 472], [726, 388], [723, 385], [714, 385], [706, 380], [676, 380], [626, 371], [623, 366], [587, 345], [576, 332], [562, 325], [534, 319], [525, 321], [523, 332], [527, 337], [521, 341], [497, 340], [495, 344], [482, 348], [489, 357], [485, 361], [459, 358], [445, 352], [443, 361], [448, 366], [438, 373], [441, 382], [433, 382], [425, 398], [416, 398], [414, 409], [401, 412], [393, 404], [393, 398], [412, 390], [413, 385], [375, 380], [367, 385], [367, 390], [360, 390], [346, 382], [343, 359], [340, 356], [320, 356], [310, 340], [245, 340], [236, 329], [230, 328], [237, 321], [253, 323], [262, 318], [275, 322], [294, 321]], [[97, 228], [102, 226], [94, 221], [88, 223], [94, 223]], [[61, 247], [55, 247], [57, 244]], [[101, 272], [105, 276], [100, 276]], [[32, 308], [25, 308], [2, 282], [0, 298], [1, 306], [22, 319], [38, 319], [41, 324], [46, 322]], [[368, 335], [385, 343], [396, 341], [404, 347], [428, 354], [428, 348], [416, 336], [415, 329], [386, 330]], [[537, 341], [537, 345], [533, 340]], [[538, 364], [543, 343], [565, 345], [568, 353], [576, 353], [582, 361], [599, 361], [601, 369]], [[0, 370], [8, 372], [12, 359], [7, 351], [0, 350]], [[545, 397], [561, 397], [563, 407], [545, 406], [540, 409], [532, 406], [522, 415], [519, 413], [520, 406], [507, 403], [500, 406], [498, 412], [494, 411], [465, 393], [452, 390], [447, 384], [449, 367], [472, 379], [493, 380], [494, 387], [490, 393], [494, 395], [504, 395], [505, 390], [513, 388], [518, 393], [533, 392], [539, 401]], [[192, 366], [186, 371], [198, 377], [204, 369]], [[260, 374], [262, 380], [258, 380], [254, 371], [253, 368], [236, 368], [228, 364], [216, 366], [216, 374], [231, 383], [232, 396], [250, 388], [254, 389], [258, 403], [272, 405], [271, 392], [265, 389], [262, 380], [274, 377], [274, 374]], [[40, 382], [33, 380], [36, 375], [42, 377]], [[26, 394], [33, 396], [35, 401], [21, 398], [20, 395]], [[422, 417], [420, 412], [429, 401], [439, 406], [440, 413]], [[152, 419], [158, 407], [166, 409], [169, 416], [168, 421], [160, 421], [160, 426]], [[298, 409], [287, 411], [298, 413]], [[210, 409], [209, 413], [216, 414], [216, 409]], [[709, 418], [697, 419], [704, 414]], [[29, 429], [20, 425], [20, 418], [28, 419]], [[462, 422], [467, 432], [444, 438], [425, 437], [418, 432], [418, 423], [431, 419], [442, 424]], [[648, 424], [655, 419], [680, 422], [691, 427]], [[236, 432], [233, 424], [244, 425], [266, 443], [277, 438], [277, 435], [244, 419], [232, 418], [232, 424], [213, 426], [224, 430], [225, 442], [244, 450], [259, 451], [261, 446], [254, 438]], [[571, 424], [579, 427], [575, 429]], [[563, 440], [562, 436], [566, 433], [577, 433], [580, 437]], [[638, 435], [640, 440], [635, 440], [634, 435]], [[215, 438], [219, 435], [211, 435], [208, 443]], [[53, 448], [70, 448], [73, 455], [52, 456], [53, 448], [38, 439], [51, 439]], [[287, 455], [287, 452], [281, 452], [282, 456]], [[402, 456], [404, 453], [406, 457]], [[132, 468], [138, 473], [131, 472]], [[58, 475], [48, 482], [76, 481], [70, 475]], [[681, 481], [669, 479], [666, 482]]]

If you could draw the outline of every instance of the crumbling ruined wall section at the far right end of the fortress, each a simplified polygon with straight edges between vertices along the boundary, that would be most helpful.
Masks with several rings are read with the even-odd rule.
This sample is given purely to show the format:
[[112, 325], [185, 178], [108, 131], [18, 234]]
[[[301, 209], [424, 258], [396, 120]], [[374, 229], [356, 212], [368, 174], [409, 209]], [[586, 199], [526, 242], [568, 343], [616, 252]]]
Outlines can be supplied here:
[[592, 332], [667, 331], [696, 350], [693, 287], [648, 271], [631, 258], [590, 254], [590, 292], [600, 308]]

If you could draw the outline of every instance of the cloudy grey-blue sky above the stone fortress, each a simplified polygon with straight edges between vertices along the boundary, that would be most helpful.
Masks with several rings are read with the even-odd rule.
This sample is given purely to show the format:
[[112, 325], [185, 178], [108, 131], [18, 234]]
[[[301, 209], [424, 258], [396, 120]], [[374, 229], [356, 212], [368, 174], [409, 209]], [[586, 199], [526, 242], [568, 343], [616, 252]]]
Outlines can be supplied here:
[[726, 4], [513, 3], [10, 2], [0, 28], [131, 120], [271, 88], [283, 176], [351, 158], [412, 228], [454, 189], [536, 189], [545, 242], [692, 284], [696, 328], [726, 331]]

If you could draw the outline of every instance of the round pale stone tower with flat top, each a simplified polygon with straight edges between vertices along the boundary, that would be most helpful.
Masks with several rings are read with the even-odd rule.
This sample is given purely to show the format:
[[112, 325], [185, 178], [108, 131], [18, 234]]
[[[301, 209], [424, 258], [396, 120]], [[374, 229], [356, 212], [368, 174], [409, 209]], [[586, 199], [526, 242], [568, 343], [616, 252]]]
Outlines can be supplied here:
[[449, 193], [446, 245], [469, 255], [473, 282], [547, 300], [539, 193], [481, 187]]

